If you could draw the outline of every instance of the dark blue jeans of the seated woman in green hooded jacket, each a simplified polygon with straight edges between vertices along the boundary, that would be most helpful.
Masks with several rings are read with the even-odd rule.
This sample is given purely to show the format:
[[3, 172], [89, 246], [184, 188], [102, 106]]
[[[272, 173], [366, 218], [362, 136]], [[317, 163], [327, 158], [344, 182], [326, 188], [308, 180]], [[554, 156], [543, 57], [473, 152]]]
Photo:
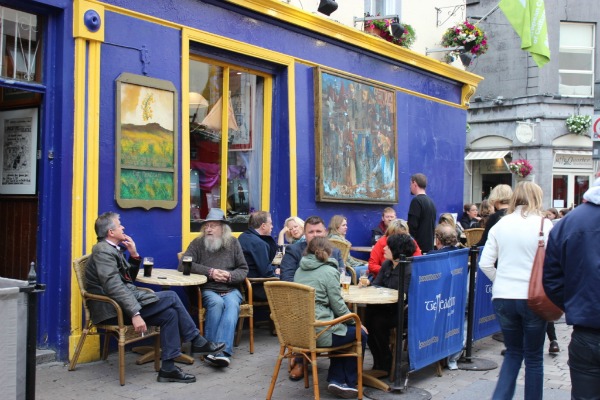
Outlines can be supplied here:
[[[367, 334], [361, 330], [361, 343], [363, 355], [365, 354], [365, 346], [367, 345]], [[348, 325], [346, 336], [331, 335], [331, 347], [341, 346], [346, 343], [351, 343], [356, 339], [356, 327]], [[334, 357], [329, 359], [329, 372], [327, 374], [327, 382], [329, 383], [345, 383], [346, 385], [355, 388], [358, 384], [358, 371], [356, 370], [356, 357]]]

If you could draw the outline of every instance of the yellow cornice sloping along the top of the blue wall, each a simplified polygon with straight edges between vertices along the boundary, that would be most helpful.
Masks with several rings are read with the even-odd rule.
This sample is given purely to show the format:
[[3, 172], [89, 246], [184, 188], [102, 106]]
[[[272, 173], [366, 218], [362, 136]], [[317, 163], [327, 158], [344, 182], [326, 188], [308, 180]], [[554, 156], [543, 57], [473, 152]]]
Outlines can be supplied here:
[[247, 8], [259, 14], [290, 23], [308, 30], [319, 32], [345, 43], [384, 55], [425, 71], [433, 72], [450, 79], [477, 86], [483, 78], [437, 61], [431, 57], [391, 44], [384, 39], [363, 31], [332, 21], [318, 13], [304, 11], [298, 7], [273, 0], [226, 0], [229, 3]]

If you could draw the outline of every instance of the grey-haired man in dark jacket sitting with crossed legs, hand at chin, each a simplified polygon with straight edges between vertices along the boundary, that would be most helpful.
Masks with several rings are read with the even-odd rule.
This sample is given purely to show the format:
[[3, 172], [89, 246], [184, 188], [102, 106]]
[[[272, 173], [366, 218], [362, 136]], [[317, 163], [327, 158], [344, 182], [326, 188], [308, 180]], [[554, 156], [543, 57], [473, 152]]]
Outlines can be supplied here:
[[[225, 343], [213, 343], [200, 336], [194, 321], [174, 292], [151, 293], [138, 290], [133, 284], [140, 269], [140, 256], [131, 237], [125, 234], [119, 214], [106, 212], [96, 219], [98, 243], [85, 271], [88, 292], [108, 296], [123, 309], [136, 332], [145, 332], [146, 323], [160, 327], [162, 365], [159, 382], [196, 382], [196, 377], [175, 366], [181, 355], [181, 341], [192, 342], [192, 352], [200, 355], [217, 353]], [[129, 251], [129, 262], [119, 245]], [[117, 324], [115, 308], [104, 302], [90, 301], [92, 320], [96, 323]]]

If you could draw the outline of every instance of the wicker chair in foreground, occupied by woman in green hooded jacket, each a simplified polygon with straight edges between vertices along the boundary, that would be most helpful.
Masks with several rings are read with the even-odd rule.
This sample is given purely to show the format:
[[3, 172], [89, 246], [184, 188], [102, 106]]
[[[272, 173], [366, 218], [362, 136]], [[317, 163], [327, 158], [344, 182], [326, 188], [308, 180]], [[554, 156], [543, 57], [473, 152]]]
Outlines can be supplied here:
[[[308, 363], [312, 364], [313, 390], [319, 399], [317, 375], [318, 357], [356, 357], [358, 372], [358, 398], [363, 397], [361, 323], [358, 315], [351, 313], [331, 321], [315, 320], [315, 289], [293, 282], [265, 282], [265, 291], [271, 318], [275, 323], [280, 349], [271, 378], [267, 400], [271, 399], [277, 376], [284, 358], [304, 358], [304, 387], [308, 388]], [[317, 347], [317, 338], [332, 326], [353, 319], [356, 323], [356, 340], [338, 347]], [[316, 327], [325, 327], [317, 335]]]

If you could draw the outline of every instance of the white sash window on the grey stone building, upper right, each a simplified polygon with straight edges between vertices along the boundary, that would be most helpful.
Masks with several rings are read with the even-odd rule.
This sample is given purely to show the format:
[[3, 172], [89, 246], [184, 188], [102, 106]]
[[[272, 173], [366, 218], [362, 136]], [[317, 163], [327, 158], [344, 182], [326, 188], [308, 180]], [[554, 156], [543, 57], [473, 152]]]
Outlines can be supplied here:
[[592, 24], [561, 22], [558, 55], [558, 91], [561, 95], [594, 95], [594, 37]]

